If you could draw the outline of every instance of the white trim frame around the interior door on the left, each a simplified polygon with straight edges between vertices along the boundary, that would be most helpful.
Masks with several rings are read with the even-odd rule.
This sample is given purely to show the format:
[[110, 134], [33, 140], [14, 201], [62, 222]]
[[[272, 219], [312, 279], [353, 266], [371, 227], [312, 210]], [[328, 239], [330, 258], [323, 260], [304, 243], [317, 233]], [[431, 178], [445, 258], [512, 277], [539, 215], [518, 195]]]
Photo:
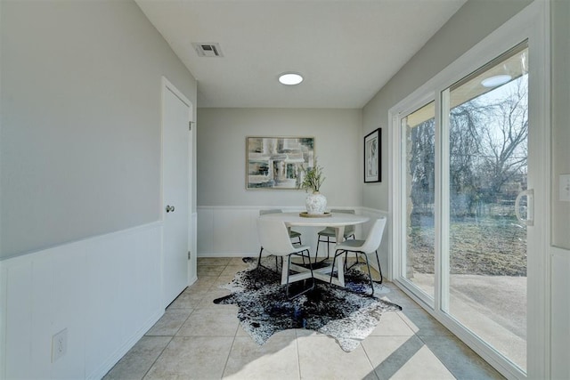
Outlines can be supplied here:
[[[194, 105], [193, 103], [180, 91], [178, 90], [175, 85], [173, 85], [167, 77], [160, 78], [160, 99], [161, 99], [161, 114], [160, 114], [160, 201], [159, 201], [159, 214], [160, 214], [160, 222], [162, 222], [162, 228], [164, 229], [164, 221], [166, 215], [163, 213], [165, 209], [165, 198], [164, 198], [164, 107], [165, 107], [165, 93], [170, 91], [174, 93], [175, 96], [180, 99], [184, 104], [188, 106], [188, 126], [189, 126], [189, 133], [188, 133], [188, 247], [186, 248], [188, 252], [191, 252], [190, 258], [188, 260], [188, 268], [187, 268], [187, 285], [190, 286], [196, 279], [196, 254], [194, 247], [196, 246], [195, 237], [196, 237], [196, 223], [194, 221], [194, 217], [192, 214], [192, 210], [194, 209], [194, 173], [195, 173], [195, 128], [192, 126], [195, 125], [194, 122]], [[163, 240], [160, 246], [161, 255], [164, 255], [164, 235]], [[162, 265], [162, 263], [161, 263]], [[164, 281], [164, 268], [160, 268], [160, 281], [161, 284]]]

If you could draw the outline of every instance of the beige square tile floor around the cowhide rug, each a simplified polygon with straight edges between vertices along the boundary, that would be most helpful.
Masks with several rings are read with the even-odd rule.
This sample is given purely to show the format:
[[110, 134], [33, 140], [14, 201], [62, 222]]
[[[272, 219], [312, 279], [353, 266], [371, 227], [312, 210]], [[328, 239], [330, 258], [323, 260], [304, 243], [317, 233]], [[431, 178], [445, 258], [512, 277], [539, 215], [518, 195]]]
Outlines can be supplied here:
[[199, 258], [199, 280], [176, 298], [104, 379], [498, 379], [503, 378], [390, 283], [387, 300], [403, 311], [382, 315], [353, 352], [334, 339], [296, 329], [255, 344], [234, 305], [212, 303], [240, 258]]

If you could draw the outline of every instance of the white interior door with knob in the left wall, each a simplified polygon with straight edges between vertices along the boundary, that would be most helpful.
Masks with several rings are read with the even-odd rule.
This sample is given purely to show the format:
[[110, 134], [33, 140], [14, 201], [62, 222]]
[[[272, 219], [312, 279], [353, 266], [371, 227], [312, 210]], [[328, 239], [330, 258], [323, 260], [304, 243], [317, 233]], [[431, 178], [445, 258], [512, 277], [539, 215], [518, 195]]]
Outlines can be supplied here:
[[191, 102], [166, 80], [162, 110], [163, 305], [188, 285]]

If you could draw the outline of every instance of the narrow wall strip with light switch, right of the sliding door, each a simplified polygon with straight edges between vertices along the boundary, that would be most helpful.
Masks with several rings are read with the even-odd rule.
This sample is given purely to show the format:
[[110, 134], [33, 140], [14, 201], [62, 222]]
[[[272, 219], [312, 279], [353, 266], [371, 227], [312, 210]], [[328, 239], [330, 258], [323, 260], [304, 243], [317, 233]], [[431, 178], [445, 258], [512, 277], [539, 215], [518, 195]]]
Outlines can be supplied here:
[[558, 200], [558, 175], [570, 174], [570, 2], [554, 0], [551, 15], [552, 234], [551, 377], [570, 378], [570, 202]]

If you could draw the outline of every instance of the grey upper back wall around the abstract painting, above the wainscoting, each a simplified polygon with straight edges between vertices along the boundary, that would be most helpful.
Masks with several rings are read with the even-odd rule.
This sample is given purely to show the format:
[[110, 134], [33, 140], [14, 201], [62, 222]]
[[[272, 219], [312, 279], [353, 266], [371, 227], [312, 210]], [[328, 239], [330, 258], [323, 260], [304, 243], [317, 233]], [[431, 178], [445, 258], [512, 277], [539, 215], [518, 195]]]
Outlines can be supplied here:
[[246, 190], [247, 136], [312, 136], [329, 205], [362, 203], [360, 109], [198, 109], [199, 206], [304, 206], [303, 190]]

